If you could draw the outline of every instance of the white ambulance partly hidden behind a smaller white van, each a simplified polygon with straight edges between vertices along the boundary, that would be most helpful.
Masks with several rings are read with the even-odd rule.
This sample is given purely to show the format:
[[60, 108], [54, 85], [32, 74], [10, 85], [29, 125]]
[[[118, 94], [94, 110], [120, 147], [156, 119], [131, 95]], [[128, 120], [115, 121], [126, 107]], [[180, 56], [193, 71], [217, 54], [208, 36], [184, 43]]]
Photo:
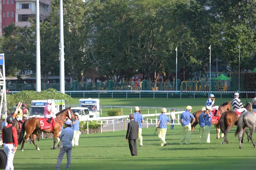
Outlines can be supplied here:
[[79, 99], [79, 107], [88, 108], [89, 114], [93, 117], [99, 117], [100, 108], [99, 108], [99, 99]]

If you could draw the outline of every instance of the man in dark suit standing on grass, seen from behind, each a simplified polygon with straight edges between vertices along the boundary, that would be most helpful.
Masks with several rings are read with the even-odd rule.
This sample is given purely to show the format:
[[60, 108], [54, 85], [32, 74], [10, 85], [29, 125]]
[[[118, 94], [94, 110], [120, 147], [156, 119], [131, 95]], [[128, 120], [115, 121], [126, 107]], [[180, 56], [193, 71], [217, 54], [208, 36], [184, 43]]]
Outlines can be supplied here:
[[129, 148], [131, 150], [131, 156], [137, 156], [137, 139], [139, 132], [139, 123], [134, 121], [134, 115], [130, 114], [131, 122], [128, 123], [126, 141], [129, 142]]

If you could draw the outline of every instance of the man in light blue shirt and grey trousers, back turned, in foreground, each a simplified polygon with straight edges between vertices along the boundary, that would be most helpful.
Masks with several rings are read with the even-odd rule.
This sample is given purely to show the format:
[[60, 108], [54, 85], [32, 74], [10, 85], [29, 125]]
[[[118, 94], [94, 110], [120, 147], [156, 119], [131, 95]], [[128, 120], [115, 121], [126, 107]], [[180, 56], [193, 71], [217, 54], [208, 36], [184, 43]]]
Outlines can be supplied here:
[[61, 161], [65, 153], [67, 153], [67, 165], [65, 169], [70, 169], [71, 164], [71, 150], [72, 150], [72, 139], [74, 136], [74, 130], [71, 127], [71, 120], [67, 120], [65, 122], [65, 129], [61, 131], [60, 139], [61, 139], [61, 149], [58, 155], [57, 165], [55, 170], [61, 169]]

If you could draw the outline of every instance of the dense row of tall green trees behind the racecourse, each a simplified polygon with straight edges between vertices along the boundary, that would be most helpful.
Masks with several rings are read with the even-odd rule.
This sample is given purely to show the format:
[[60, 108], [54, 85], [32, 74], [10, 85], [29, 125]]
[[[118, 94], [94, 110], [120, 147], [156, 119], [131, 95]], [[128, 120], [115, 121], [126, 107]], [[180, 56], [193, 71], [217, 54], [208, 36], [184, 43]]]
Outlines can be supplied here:
[[[175, 81], [178, 49], [178, 78], [209, 71], [221, 59], [238, 71], [255, 67], [256, 2], [254, 0], [67, 0], [64, 2], [65, 74], [81, 82], [94, 69], [106, 79], [129, 80], [145, 74], [148, 81], [159, 74]], [[58, 0], [41, 23], [41, 71], [44, 80], [59, 75]], [[9, 75], [35, 70], [35, 21], [31, 28], [4, 28], [1, 52], [6, 54]], [[25, 64], [24, 64], [25, 63]], [[198, 76], [200, 79], [201, 77]]]

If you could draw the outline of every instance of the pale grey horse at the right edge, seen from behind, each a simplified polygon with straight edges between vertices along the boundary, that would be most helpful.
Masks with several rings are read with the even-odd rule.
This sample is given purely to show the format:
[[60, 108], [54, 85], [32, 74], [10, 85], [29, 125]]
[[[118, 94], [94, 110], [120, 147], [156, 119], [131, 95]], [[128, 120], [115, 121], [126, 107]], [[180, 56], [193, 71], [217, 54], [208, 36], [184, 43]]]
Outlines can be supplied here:
[[250, 128], [249, 138], [253, 142], [253, 146], [255, 148], [255, 142], [253, 141], [253, 132], [256, 127], [256, 114], [255, 113], [247, 111], [244, 114], [241, 114], [238, 119], [235, 136], [238, 135], [240, 149], [242, 148], [241, 139], [243, 136], [244, 129], [246, 127]]

